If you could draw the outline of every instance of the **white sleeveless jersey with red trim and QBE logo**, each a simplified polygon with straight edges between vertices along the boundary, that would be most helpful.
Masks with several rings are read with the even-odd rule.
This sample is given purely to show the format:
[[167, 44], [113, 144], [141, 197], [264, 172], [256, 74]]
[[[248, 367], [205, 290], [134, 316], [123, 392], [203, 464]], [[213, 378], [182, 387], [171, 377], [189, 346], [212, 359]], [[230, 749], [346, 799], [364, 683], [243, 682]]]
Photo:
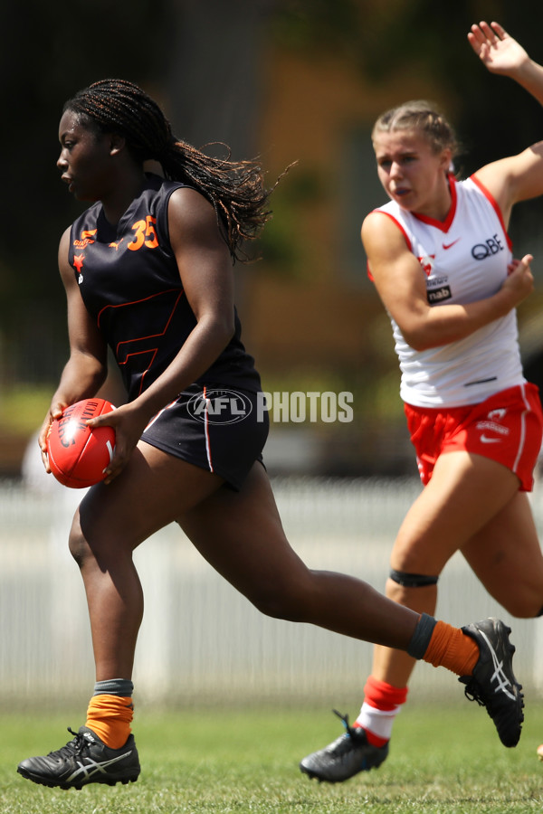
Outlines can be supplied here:
[[[452, 205], [445, 221], [406, 212], [394, 201], [379, 207], [404, 233], [426, 279], [428, 302], [467, 304], [491, 297], [507, 277], [511, 242], [500, 209], [472, 176], [450, 176]], [[513, 309], [471, 336], [415, 351], [391, 318], [402, 371], [400, 396], [418, 407], [458, 407], [525, 382]]]

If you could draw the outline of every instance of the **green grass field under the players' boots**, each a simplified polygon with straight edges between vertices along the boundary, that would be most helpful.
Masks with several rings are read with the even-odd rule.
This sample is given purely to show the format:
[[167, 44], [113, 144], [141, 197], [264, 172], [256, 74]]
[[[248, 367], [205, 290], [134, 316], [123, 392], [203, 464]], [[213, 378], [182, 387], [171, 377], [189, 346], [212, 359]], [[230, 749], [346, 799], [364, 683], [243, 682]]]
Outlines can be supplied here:
[[543, 705], [529, 709], [516, 749], [504, 749], [486, 713], [462, 704], [407, 707], [389, 759], [331, 786], [309, 781], [298, 762], [338, 733], [319, 708], [235, 711], [215, 707], [158, 714], [138, 709], [137, 783], [53, 790], [15, 771], [24, 757], [70, 740], [67, 715], [0, 715], [2, 814], [526, 814], [543, 808]]

